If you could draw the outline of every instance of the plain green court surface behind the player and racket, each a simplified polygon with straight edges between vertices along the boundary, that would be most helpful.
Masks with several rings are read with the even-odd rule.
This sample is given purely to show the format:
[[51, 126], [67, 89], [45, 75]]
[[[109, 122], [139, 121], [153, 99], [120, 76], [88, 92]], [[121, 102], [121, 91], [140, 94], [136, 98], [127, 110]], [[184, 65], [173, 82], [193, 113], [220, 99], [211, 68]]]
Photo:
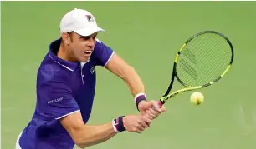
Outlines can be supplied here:
[[[175, 54], [194, 33], [222, 32], [235, 50], [228, 75], [201, 90], [201, 106], [184, 93], [167, 102], [167, 111], [140, 135], [121, 133], [90, 148], [256, 148], [256, 2], [2, 2], [3, 149], [14, 148], [33, 115], [38, 66], [59, 37], [61, 17], [74, 7], [95, 15], [108, 32], [100, 40], [136, 68], [152, 100], [165, 92]], [[124, 82], [102, 67], [97, 73], [89, 124], [138, 113]]]

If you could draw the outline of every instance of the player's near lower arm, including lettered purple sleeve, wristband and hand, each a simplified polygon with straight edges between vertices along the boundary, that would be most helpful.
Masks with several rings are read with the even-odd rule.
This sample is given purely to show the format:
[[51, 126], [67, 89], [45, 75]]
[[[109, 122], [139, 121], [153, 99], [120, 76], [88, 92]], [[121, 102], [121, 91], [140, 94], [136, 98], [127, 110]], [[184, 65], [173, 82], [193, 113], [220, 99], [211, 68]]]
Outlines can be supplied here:
[[[58, 120], [81, 148], [105, 142], [117, 132], [126, 130], [140, 133], [151, 123], [148, 117], [137, 115], [118, 117], [106, 124], [90, 126], [84, 124], [72, 88], [64, 77], [38, 83], [38, 87], [40, 89], [38, 102], [44, 107], [44, 114]], [[54, 99], [58, 100], [54, 101]]]

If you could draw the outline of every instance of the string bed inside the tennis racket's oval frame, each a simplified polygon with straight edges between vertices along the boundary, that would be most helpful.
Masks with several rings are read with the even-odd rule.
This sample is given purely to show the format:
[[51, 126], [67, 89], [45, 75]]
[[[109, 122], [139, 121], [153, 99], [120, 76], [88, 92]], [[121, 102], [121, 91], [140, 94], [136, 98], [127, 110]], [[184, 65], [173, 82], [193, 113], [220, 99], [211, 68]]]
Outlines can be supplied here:
[[177, 76], [185, 84], [197, 87], [212, 82], [228, 67], [232, 52], [228, 42], [217, 34], [192, 39], [177, 62]]

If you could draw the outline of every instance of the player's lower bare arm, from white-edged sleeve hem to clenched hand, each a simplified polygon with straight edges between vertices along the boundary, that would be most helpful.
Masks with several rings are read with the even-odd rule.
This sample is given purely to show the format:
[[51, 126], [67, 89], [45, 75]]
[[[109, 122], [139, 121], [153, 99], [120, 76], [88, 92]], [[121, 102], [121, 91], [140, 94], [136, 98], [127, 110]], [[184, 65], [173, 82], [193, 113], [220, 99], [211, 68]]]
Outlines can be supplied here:
[[117, 130], [114, 128], [113, 122], [101, 125], [84, 125], [80, 112], [74, 112], [73, 114], [61, 118], [59, 121], [67, 132], [69, 132], [75, 144], [80, 148], [89, 147], [109, 140], [111, 137], [115, 136], [116, 131], [120, 131], [118, 130], [120, 127], [124, 127], [125, 130], [129, 132], [141, 133], [146, 127], [149, 127], [151, 123], [148, 117], [141, 115], [120, 118], [119, 120], [117, 119], [117, 121], [119, 121]]

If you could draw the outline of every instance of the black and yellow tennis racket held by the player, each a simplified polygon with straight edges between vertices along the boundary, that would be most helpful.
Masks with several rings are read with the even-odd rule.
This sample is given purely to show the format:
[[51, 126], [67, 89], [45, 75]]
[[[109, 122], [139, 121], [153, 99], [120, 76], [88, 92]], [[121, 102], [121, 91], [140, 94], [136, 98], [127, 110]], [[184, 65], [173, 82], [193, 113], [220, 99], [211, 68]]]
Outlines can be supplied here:
[[[215, 31], [193, 35], [177, 52], [172, 80], [166, 93], [160, 98], [159, 106], [182, 92], [209, 87], [218, 82], [227, 74], [232, 64], [233, 45], [228, 37]], [[184, 88], [170, 93], [175, 78]]]

